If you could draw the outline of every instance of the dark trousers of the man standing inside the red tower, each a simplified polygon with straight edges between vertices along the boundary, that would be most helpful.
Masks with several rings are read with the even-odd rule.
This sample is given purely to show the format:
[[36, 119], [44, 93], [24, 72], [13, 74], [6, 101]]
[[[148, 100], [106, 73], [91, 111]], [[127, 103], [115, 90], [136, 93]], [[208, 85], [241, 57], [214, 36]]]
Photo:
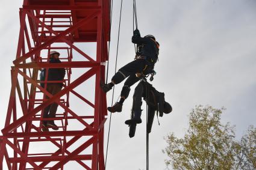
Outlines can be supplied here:
[[[60, 83], [48, 83], [46, 90], [49, 93], [51, 93], [52, 96], [54, 96], [59, 91], [61, 91], [61, 88], [62, 88], [62, 85]], [[49, 99], [49, 97], [46, 96], [46, 99]], [[55, 118], [57, 108], [58, 108], [58, 104], [55, 102], [47, 106], [43, 111], [43, 118]], [[47, 124], [48, 122], [54, 123], [54, 121], [51, 120], [51, 121], [43, 121], [43, 124]]]

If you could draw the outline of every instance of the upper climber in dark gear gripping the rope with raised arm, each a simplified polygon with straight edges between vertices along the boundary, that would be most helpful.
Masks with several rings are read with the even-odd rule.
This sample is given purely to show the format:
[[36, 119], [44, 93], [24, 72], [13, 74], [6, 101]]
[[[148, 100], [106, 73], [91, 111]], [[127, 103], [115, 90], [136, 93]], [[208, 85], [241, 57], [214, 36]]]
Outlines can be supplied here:
[[112, 113], [122, 112], [122, 105], [129, 96], [130, 87], [142, 79], [143, 75], [154, 73], [154, 65], [158, 60], [159, 43], [155, 40], [153, 35], [140, 37], [140, 31], [136, 29], [133, 32], [131, 41], [137, 44], [138, 49], [134, 61], [120, 68], [117, 73], [114, 74], [110, 83], [104, 84], [101, 82], [102, 90], [107, 93], [114, 85], [128, 77], [123, 85], [119, 102], [115, 103], [112, 107], [108, 107], [108, 111]]

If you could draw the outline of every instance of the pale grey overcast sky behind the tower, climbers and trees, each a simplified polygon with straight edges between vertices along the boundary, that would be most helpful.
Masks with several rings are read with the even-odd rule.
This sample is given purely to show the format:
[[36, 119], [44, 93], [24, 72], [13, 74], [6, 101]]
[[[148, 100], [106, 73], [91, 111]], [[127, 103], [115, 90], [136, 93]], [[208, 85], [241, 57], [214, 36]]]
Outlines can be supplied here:
[[[22, 2], [1, 1], [1, 119], [4, 127], [10, 94], [10, 66], [16, 55], [19, 33], [19, 7]], [[114, 74], [120, 0], [113, 1], [110, 47], [110, 73]], [[123, 1], [117, 67], [133, 61], [134, 46], [132, 1]], [[239, 139], [250, 124], [256, 125], [256, 1], [255, 0], [140, 0], [137, 1], [140, 33], [153, 34], [160, 43], [159, 61], [152, 84], [164, 92], [173, 107], [172, 114], [155, 120], [149, 135], [149, 167], [164, 169], [166, 147], [163, 136], [169, 132], [182, 137], [188, 127], [189, 112], [195, 105], [224, 106], [222, 123], [236, 125]], [[89, 51], [92, 52], [92, 51]], [[116, 86], [117, 100], [123, 83]], [[146, 124], [137, 126], [129, 138], [124, 121], [130, 117], [133, 91], [123, 112], [113, 114], [107, 169], [146, 169]], [[111, 105], [111, 91], [108, 106]], [[145, 108], [145, 105], [143, 105]], [[83, 107], [79, 107], [83, 109]], [[108, 121], [105, 124], [107, 144]], [[72, 164], [72, 167], [81, 166]], [[67, 166], [68, 167], [68, 166]]]

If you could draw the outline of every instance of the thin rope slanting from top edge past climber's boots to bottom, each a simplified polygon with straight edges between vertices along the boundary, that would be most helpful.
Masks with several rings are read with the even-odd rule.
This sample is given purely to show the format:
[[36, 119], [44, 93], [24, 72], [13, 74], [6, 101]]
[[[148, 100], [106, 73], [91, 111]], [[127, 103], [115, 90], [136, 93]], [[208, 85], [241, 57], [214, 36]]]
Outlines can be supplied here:
[[[123, 4], [123, 0], [121, 1], [121, 7], [120, 7], [119, 29], [118, 29], [117, 49], [116, 49], [116, 65], [117, 65], [117, 56], [118, 56], [118, 47], [119, 47], [119, 35], [120, 35], [120, 23], [121, 23], [121, 16], [122, 16], [122, 4]], [[115, 74], [116, 74], [116, 65], [115, 65], [115, 68], [114, 68], [114, 73]], [[113, 93], [112, 93], [111, 106], [113, 106], [113, 99], [114, 99], [114, 87], [113, 87]], [[109, 126], [108, 126], [108, 141], [107, 141], [107, 151], [106, 151], [106, 158], [105, 158], [105, 168], [107, 166], [108, 143], [109, 143], [109, 138], [110, 138], [111, 116], [112, 116], [112, 113], [110, 113], [110, 123], [109, 123]]]

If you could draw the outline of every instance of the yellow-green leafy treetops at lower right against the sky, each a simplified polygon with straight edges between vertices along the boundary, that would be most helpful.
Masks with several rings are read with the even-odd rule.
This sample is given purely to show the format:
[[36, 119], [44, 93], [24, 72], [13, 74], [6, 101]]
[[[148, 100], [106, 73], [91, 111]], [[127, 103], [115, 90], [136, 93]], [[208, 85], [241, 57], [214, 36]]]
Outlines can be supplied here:
[[163, 150], [173, 169], [255, 169], [256, 130], [250, 127], [240, 142], [235, 141], [234, 126], [220, 123], [224, 109], [196, 106], [189, 116], [184, 138], [173, 133], [164, 139]]

